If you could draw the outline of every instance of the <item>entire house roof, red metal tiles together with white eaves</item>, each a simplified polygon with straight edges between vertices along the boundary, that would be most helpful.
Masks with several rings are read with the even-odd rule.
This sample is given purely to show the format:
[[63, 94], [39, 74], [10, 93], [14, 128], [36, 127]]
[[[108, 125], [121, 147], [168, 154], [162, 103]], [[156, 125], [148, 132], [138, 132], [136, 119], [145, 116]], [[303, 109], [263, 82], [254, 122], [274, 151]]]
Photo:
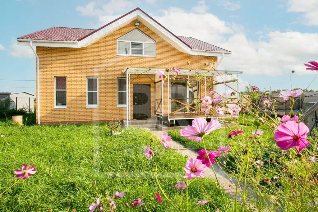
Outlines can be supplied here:
[[229, 56], [231, 54], [230, 51], [194, 38], [176, 36], [138, 7], [97, 30], [52, 27], [19, 37], [17, 40], [18, 45], [31, 45], [29, 43], [32, 41], [34, 46], [82, 48], [96, 43], [134, 20], [140, 21], [181, 52], [205, 56]]

